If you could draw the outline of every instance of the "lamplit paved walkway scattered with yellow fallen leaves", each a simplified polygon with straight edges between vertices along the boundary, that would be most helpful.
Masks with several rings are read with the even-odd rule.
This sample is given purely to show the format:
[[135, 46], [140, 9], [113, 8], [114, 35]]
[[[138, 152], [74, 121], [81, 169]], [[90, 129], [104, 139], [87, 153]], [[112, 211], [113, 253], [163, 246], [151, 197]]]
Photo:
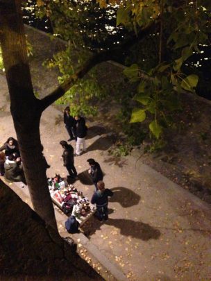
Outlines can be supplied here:
[[[8, 137], [15, 137], [4, 76], [0, 76], [0, 94], [3, 144]], [[86, 237], [73, 236], [79, 253], [87, 262], [89, 256], [93, 258], [98, 271], [104, 266], [117, 280], [211, 280], [210, 206], [142, 164], [136, 153], [121, 160], [110, 156], [108, 135], [97, 135], [97, 123], [88, 126], [88, 149], [75, 159], [80, 180], [74, 185], [91, 198], [94, 186], [87, 182], [84, 173], [88, 169], [86, 160], [94, 157], [105, 173], [105, 186], [115, 195], [110, 200], [108, 222], [93, 218], [83, 227]], [[59, 144], [68, 138], [62, 114], [48, 108], [42, 116], [40, 132], [44, 155], [51, 165], [47, 175], [66, 176]], [[30, 205], [27, 187], [10, 186]], [[63, 228], [67, 217], [58, 210], [56, 217], [61, 235], [67, 237]], [[114, 280], [108, 276], [108, 280]]]

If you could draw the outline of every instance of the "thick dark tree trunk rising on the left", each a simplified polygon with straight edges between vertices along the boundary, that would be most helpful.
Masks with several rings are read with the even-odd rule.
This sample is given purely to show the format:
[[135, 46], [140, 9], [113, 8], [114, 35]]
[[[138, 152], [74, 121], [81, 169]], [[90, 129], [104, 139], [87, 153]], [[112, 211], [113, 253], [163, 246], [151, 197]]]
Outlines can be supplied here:
[[33, 93], [21, 1], [0, 0], [0, 42], [10, 92], [10, 110], [35, 212], [57, 230], [40, 142], [40, 101]]

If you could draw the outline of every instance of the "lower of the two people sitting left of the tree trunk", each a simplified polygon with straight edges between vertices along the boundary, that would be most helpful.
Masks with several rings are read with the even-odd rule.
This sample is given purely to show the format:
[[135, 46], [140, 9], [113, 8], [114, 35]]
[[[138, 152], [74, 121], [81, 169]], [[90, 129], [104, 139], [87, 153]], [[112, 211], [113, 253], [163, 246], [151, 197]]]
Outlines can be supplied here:
[[26, 185], [26, 178], [21, 162], [21, 158], [17, 154], [11, 154], [4, 163], [5, 174], [4, 177], [8, 182], [24, 182]]

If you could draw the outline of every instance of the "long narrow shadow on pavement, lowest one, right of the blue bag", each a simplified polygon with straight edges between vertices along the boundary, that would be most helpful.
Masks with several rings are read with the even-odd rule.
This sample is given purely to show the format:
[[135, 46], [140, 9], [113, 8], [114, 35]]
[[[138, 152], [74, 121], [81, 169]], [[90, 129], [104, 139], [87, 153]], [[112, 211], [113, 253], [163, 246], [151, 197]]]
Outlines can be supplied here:
[[[153, 228], [147, 223], [141, 221], [132, 221], [130, 219], [108, 219], [103, 222], [105, 225], [112, 225], [115, 228], [119, 228], [120, 234], [124, 236], [130, 236], [133, 238], [147, 241], [149, 239], [158, 239], [161, 232], [156, 228]], [[90, 238], [96, 230], [101, 229], [102, 222], [98, 221], [94, 217], [90, 219], [85, 225], [83, 225], [84, 234]]]

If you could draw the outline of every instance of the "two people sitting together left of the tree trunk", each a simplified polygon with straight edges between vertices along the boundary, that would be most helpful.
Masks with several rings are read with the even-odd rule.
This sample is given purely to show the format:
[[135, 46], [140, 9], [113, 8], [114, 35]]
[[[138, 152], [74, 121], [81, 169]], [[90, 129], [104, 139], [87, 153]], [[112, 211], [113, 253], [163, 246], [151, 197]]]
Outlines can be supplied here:
[[13, 137], [9, 137], [0, 147], [0, 173], [8, 182], [26, 184], [18, 143]]

